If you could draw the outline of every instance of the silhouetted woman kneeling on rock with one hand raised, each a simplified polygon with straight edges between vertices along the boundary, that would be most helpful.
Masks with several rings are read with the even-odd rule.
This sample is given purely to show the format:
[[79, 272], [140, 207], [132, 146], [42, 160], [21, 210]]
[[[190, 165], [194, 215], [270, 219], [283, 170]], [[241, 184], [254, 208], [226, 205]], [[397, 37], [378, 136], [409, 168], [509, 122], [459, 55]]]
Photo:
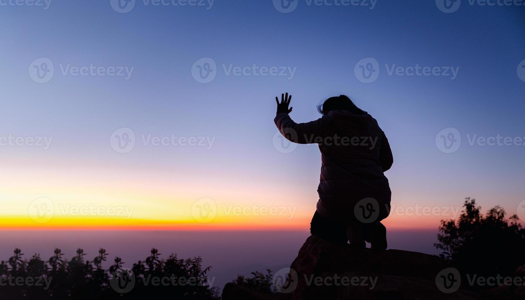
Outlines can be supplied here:
[[319, 201], [310, 223], [311, 234], [336, 243], [385, 250], [391, 191], [384, 172], [393, 163], [385, 133], [366, 111], [350, 98], [331, 97], [318, 106], [323, 115], [296, 123], [288, 115], [292, 96], [277, 101], [275, 125], [291, 142], [319, 144], [321, 179]]

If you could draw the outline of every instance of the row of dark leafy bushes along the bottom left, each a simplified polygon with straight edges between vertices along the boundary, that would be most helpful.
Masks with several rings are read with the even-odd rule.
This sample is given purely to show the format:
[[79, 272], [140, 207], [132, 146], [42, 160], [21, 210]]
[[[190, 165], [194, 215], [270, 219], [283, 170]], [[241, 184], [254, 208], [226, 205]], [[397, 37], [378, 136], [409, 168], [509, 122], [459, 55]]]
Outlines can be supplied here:
[[92, 262], [85, 261], [82, 249], [70, 261], [60, 249], [47, 262], [38, 254], [29, 260], [15, 249], [8, 262], [0, 262], [0, 299], [219, 299], [218, 288], [211, 287], [202, 269], [201, 257], [178, 259], [175, 254], [166, 259], [152, 249], [144, 262], [122, 268], [116, 257], [109, 270], [102, 268], [106, 250], [100, 249]]

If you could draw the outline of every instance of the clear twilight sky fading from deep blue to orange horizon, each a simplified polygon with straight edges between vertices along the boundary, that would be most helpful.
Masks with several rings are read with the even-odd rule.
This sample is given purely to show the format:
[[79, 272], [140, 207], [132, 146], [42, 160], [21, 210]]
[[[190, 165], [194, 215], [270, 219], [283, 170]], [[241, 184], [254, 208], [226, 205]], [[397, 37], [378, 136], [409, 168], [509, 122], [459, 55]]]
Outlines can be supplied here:
[[[299, 1], [299, 0], [297, 0]], [[5, 2], [3, 2], [5, 3]], [[364, 6], [308, 6], [280, 13], [271, 0], [216, 0], [203, 6], [135, 3], [118, 13], [109, 1], [53, 0], [48, 9], [0, 6], [0, 136], [52, 137], [49, 149], [0, 146], [1, 227], [308, 228], [315, 210], [320, 153], [274, 148], [275, 96], [293, 95], [291, 117], [319, 118], [316, 105], [345, 94], [369, 111], [394, 154], [386, 172], [392, 203], [452, 206], [467, 196], [485, 212], [510, 214], [525, 199], [525, 146], [469, 146], [467, 134], [525, 137], [525, 7], [470, 6], [441, 12], [434, 1], [381, 1]], [[55, 74], [39, 84], [31, 62], [47, 57]], [[192, 76], [204, 57], [217, 75]], [[379, 78], [354, 76], [363, 58], [379, 61]], [[132, 76], [63, 76], [60, 65], [133, 67]], [[234, 76], [228, 67], [297, 68], [283, 76]], [[459, 67], [446, 76], [388, 76], [388, 66]], [[522, 63], [521, 63], [522, 64]], [[30, 68], [29, 68], [30, 69]], [[519, 69], [519, 68], [518, 68]], [[129, 153], [110, 146], [112, 132], [131, 128]], [[436, 147], [437, 133], [456, 128], [454, 153]], [[140, 135], [215, 138], [213, 147], [144, 146]], [[54, 218], [35, 223], [28, 208], [46, 197]], [[192, 204], [217, 203], [201, 224]], [[57, 205], [133, 208], [130, 219], [71, 216]], [[285, 216], [226, 215], [229, 205], [295, 209]], [[406, 210], [408, 208], [408, 211]], [[521, 213], [525, 218], [525, 210]], [[393, 213], [388, 226], [436, 228], [434, 215]]]

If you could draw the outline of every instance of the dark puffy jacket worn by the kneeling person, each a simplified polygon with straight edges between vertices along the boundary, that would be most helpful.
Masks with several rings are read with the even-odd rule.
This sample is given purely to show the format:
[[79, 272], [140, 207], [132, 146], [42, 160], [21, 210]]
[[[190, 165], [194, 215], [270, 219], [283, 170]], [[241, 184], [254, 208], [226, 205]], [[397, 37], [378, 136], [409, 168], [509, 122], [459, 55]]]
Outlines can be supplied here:
[[308, 123], [298, 124], [287, 113], [278, 113], [274, 121], [291, 142], [319, 144], [317, 211], [324, 218], [355, 219], [355, 206], [365, 198], [379, 204], [377, 221], [388, 216], [391, 191], [383, 172], [392, 166], [392, 151], [372, 116], [336, 110]]

